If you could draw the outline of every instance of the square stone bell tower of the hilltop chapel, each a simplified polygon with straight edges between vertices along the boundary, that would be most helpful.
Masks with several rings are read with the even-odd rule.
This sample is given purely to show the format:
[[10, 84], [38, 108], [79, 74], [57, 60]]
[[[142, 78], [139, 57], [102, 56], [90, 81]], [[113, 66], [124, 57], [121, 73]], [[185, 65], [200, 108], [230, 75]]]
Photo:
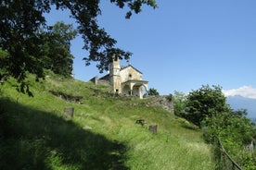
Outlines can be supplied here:
[[113, 91], [121, 93], [121, 75], [120, 75], [119, 56], [113, 55], [109, 63], [109, 80]]

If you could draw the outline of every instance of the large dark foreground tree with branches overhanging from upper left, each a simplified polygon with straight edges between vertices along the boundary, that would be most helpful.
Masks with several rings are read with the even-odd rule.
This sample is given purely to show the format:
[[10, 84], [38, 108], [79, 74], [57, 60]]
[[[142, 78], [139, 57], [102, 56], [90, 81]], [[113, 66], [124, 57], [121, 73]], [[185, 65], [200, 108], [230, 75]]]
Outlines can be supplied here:
[[[119, 55], [129, 59], [131, 53], [116, 47], [116, 40], [98, 26], [97, 16], [101, 14], [99, 0], [2, 0], [0, 4], [0, 47], [8, 52], [7, 71], [11, 76], [22, 80], [26, 71], [43, 77], [42, 45], [44, 38], [39, 33], [47, 29], [44, 13], [52, 7], [70, 10], [70, 17], [78, 23], [78, 31], [82, 34], [84, 46], [89, 56], [84, 57], [85, 64], [97, 62], [102, 72], [108, 69], [109, 58]], [[126, 18], [133, 13], [141, 12], [143, 5], [157, 7], [155, 0], [110, 0], [110, 3], [123, 8], [127, 6]]]

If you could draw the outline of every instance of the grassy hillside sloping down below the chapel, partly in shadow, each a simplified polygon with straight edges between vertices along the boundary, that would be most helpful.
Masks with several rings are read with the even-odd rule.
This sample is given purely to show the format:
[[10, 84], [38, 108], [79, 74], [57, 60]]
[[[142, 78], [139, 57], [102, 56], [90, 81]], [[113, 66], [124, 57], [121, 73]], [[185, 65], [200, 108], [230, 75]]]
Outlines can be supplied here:
[[[0, 85], [0, 169], [214, 169], [201, 131], [148, 106], [150, 99], [125, 100], [106, 86], [53, 74], [32, 79], [33, 97], [18, 92], [13, 79]], [[63, 94], [83, 99], [68, 102]], [[63, 116], [66, 107], [74, 108], [72, 118]], [[141, 118], [144, 127], [135, 124]]]

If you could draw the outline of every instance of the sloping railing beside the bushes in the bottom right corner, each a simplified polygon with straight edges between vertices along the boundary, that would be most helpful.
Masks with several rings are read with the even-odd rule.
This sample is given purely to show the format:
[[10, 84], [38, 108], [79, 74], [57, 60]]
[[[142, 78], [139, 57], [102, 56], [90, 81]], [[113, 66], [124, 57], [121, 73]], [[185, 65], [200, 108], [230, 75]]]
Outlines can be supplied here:
[[219, 170], [242, 170], [242, 167], [237, 164], [232, 158], [231, 156], [224, 150], [224, 146], [221, 142], [221, 140], [219, 140], [216, 137], [217, 143], [218, 143], [218, 149], [220, 152], [220, 157], [219, 157], [219, 167], [217, 167], [217, 169]]

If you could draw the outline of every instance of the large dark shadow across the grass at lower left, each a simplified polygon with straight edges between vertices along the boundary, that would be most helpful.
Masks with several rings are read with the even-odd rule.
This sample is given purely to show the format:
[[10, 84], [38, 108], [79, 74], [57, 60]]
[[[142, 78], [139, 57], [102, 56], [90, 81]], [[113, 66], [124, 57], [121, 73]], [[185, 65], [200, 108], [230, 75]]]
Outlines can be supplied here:
[[125, 145], [0, 98], [0, 169], [129, 169]]

